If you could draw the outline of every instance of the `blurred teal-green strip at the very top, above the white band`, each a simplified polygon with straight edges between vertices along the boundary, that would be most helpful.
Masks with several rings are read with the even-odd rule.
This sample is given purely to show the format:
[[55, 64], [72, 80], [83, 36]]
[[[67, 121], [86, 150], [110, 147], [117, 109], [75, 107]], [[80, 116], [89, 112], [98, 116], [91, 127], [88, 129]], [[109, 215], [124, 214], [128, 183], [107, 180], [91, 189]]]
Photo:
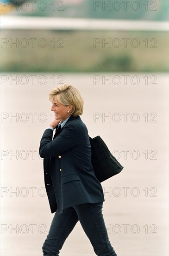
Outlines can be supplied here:
[[20, 9], [17, 14], [120, 20], [169, 19], [168, 0], [37, 0], [33, 6], [27, 11]]

